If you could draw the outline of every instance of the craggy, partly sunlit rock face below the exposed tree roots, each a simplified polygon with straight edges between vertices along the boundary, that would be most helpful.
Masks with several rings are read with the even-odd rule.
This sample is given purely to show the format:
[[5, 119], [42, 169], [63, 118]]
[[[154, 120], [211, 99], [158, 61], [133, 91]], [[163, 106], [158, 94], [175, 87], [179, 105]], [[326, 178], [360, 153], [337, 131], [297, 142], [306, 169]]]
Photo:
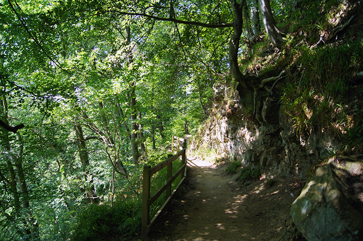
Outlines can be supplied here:
[[210, 120], [189, 139], [190, 150], [209, 149], [218, 158], [241, 160], [269, 175], [304, 177], [321, 154], [335, 147], [330, 138], [319, 135], [297, 137], [278, 95], [255, 95], [232, 80], [213, 90]]

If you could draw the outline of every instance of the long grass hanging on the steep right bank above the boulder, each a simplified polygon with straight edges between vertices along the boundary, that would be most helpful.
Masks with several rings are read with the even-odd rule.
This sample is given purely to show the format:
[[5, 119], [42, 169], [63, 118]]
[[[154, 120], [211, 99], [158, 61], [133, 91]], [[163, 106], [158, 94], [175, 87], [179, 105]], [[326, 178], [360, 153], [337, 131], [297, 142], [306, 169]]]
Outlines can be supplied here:
[[362, 115], [353, 117], [349, 105], [352, 91], [362, 89], [350, 82], [354, 73], [362, 69], [362, 41], [315, 49], [299, 48], [299, 53], [293, 54], [298, 56], [296, 62], [302, 67], [297, 76], [287, 78], [281, 103], [294, 121], [297, 135], [307, 135], [311, 128], [335, 135], [343, 142], [351, 138], [347, 134], [350, 128], [353, 128], [351, 132], [358, 133], [355, 135], [360, 135], [354, 123], [358, 123]]

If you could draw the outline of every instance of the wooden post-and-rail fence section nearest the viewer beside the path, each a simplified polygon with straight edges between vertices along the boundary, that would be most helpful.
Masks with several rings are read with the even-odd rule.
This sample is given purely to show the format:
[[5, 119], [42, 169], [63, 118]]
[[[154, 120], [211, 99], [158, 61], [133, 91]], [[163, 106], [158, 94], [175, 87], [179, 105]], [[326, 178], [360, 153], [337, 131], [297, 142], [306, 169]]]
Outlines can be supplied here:
[[[178, 141], [179, 143], [179, 141]], [[160, 214], [166, 209], [167, 205], [175, 196], [176, 192], [179, 190], [181, 183], [185, 180], [186, 176], [186, 140], [184, 140], [182, 145], [182, 150], [177, 151], [177, 154], [172, 155], [169, 154], [168, 158], [154, 166], [144, 166], [143, 172], [143, 187], [142, 187], [142, 221], [141, 221], [141, 235], [147, 236], [152, 229], [152, 226], [156, 223], [157, 219], [160, 217]], [[181, 156], [181, 167], [179, 170], [172, 175], [173, 170], [173, 162], [177, 160]], [[157, 173], [164, 167], [167, 167], [166, 170], [166, 183], [164, 186], [159, 188], [152, 196], [150, 195], [150, 186], [151, 186], [151, 177], [153, 174]], [[173, 181], [181, 175], [181, 181], [178, 183], [177, 187], [173, 192], [171, 192], [171, 184]], [[166, 191], [166, 200], [164, 204], [161, 206], [159, 211], [154, 215], [154, 217], [150, 221], [150, 207], [156, 201], [156, 199], [161, 196]]]

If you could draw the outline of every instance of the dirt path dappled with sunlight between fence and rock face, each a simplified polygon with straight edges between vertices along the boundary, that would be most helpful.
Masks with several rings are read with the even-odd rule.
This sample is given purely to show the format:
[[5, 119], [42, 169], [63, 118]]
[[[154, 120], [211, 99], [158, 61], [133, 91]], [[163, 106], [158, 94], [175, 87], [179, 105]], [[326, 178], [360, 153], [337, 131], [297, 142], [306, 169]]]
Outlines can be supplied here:
[[242, 186], [223, 164], [188, 162], [186, 184], [146, 240], [304, 240], [289, 215], [294, 198], [285, 191], [299, 196], [303, 181], [278, 179], [269, 186], [262, 179]]

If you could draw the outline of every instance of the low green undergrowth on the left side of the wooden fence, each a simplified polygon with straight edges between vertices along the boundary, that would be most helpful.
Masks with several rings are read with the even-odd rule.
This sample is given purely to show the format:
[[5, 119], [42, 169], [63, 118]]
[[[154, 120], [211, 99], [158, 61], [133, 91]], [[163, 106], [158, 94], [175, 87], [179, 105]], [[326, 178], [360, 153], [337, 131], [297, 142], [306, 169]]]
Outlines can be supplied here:
[[[165, 154], [149, 156], [149, 162], [143, 165], [155, 166], [166, 159]], [[92, 204], [77, 212], [77, 225], [72, 234], [74, 241], [109, 240], [122, 237], [127, 240], [137, 235], [141, 229], [142, 206], [142, 166], [129, 169], [129, 178], [120, 178], [119, 188], [114, 199], [100, 204]], [[173, 174], [181, 167], [181, 161], [173, 162]], [[181, 181], [179, 176], [172, 184], [174, 190]], [[166, 182], [166, 167], [155, 173], [151, 178], [151, 195]], [[122, 186], [122, 187], [121, 187]], [[152, 218], [164, 203], [165, 192], [150, 207]], [[105, 199], [106, 200], [106, 199]]]

